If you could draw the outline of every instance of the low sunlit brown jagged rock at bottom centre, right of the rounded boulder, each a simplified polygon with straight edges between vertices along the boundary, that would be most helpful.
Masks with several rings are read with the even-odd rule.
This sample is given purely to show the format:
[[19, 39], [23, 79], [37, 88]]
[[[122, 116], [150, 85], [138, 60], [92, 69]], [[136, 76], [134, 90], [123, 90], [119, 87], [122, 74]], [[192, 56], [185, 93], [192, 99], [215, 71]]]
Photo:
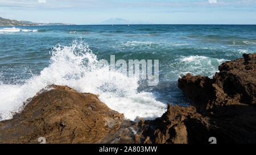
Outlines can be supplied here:
[[[196, 108], [172, 106], [161, 118], [139, 122], [141, 139], [158, 144], [208, 143], [210, 131], [215, 129], [209, 118], [196, 112]], [[202, 134], [203, 133], [203, 134]]]

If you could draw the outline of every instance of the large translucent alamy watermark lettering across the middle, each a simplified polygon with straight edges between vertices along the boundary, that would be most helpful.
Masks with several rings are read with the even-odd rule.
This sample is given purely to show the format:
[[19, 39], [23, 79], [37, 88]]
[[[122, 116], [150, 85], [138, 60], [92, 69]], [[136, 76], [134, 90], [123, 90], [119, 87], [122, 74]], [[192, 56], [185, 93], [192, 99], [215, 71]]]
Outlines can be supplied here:
[[120, 72], [125, 76], [138, 77], [147, 80], [149, 86], [156, 86], [159, 82], [159, 60], [115, 60], [115, 55], [110, 56], [110, 64], [108, 60], [98, 61], [100, 66], [110, 66], [110, 72]]

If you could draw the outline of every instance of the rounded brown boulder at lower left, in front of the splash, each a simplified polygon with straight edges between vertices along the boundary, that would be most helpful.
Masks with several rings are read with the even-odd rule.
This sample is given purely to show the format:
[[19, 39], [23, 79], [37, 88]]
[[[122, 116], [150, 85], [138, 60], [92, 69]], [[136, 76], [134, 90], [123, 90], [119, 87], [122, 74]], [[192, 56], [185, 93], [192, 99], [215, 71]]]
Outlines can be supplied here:
[[98, 95], [51, 85], [29, 99], [20, 114], [0, 123], [0, 143], [38, 143], [39, 137], [46, 143], [135, 143], [131, 125]]

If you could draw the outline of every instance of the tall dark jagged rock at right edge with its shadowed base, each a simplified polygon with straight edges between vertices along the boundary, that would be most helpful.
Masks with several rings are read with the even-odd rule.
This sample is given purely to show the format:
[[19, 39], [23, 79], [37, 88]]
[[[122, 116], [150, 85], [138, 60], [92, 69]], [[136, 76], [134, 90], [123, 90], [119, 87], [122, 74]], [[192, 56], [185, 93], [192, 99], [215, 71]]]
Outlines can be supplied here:
[[256, 142], [256, 54], [222, 63], [213, 79], [187, 74], [179, 87], [224, 143]]

